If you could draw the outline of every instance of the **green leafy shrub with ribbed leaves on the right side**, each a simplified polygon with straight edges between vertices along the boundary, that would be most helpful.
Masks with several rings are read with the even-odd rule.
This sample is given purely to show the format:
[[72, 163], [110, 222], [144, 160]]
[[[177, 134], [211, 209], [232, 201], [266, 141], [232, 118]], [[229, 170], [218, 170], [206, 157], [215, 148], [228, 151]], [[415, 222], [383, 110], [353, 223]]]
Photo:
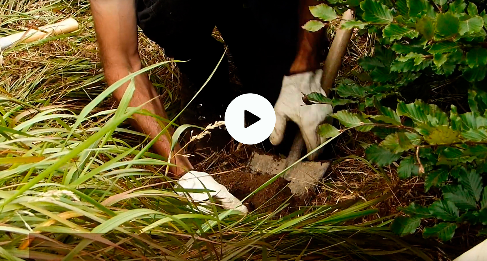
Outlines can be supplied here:
[[[310, 7], [317, 19], [303, 28], [320, 30], [347, 9], [355, 19], [342, 28], [375, 33], [374, 55], [359, 60], [361, 72], [349, 77], [355, 80], [339, 79], [332, 97], [310, 93], [304, 99], [355, 104], [358, 112], [343, 109], [333, 117], [345, 128], [382, 139], [366, 147], [367, 159], [381, 167], [395, 162], [400, 178], [419, 175], [425, 191], [440, 192], [429, 206], [401, 208], [407, 216], [393, 221], [394, 232], [414, 233], [422, 219], [435, 219], [423, 236], [448, 241], [462, 224], [487, 225], [484, 1], [328, 0]], [[468, 106], [440, 107], [421, 98], [445, 86], [464, 93]], [[340, 132], [329, 124], [319, 129], [330, 138]]]

